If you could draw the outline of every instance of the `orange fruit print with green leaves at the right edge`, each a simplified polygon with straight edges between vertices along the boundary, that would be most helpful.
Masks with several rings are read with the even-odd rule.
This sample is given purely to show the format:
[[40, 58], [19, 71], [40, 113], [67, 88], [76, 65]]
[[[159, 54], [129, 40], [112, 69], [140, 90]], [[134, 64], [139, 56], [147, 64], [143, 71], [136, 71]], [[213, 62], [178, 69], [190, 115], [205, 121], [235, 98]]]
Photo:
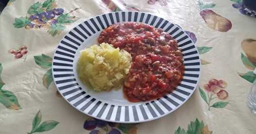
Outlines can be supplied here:
[[244, 66], [249, 69], [246, 73], [238, 73], [240, 77], [246, 81], [253, 83], [256, 79], [256, 75], [252, 72], [256, 67], [256, 39], [244, 39], [241, 42], [242, 49], [245, 55], [241, 53], [241, 60]]

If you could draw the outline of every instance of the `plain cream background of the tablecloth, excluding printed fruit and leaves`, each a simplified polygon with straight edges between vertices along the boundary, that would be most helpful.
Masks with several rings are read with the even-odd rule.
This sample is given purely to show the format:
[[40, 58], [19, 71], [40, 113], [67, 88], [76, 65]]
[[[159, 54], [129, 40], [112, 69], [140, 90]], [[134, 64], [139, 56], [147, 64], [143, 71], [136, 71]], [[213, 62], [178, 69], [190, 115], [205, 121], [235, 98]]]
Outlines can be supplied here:
[[[0, 92], [0, 133], [31, 132], [33, 118], [39, 110], [41, 122], [47, 120], [59, 122], [53, 129], [42, 133], [89, 133], [90, 130], [84, 129], [83, 124], [90, 117], [78, 112], [63, 98], [56, 95], [54, 83], [51, 83], [48, 89], [43, 85], [42, 77], [48, 68], [37, 65], [34, 56], [44, 54], [52, 57], [59, 40], [75, 25], [90, 17], [111, 12], [116, 7], [109, 1], [55, 0], [57, 8], [64, 9], [64, 13], [80, 8], [70, 13], [70, 16], [76, 17], [76, 21], [65, 24], [65, 30], [52, 36], [44, 28], [15, 28], [14, 19], [29, 16], [27, 11], [36, 2], [37, 0], [12, 1], [0, 15], [0, 63], [3, 67], [0, 75], [5, 83], [2, 91], [12, 92], [18, 100], [18, 104], [5, 106], [1, 102], [1, 97], [3, 99], [4, 95]], [[39, 0], [39, 2], [45, 1]], [[210, 133], [210, 131], [230, 134], [256, 133], [256, 115], [248, 110], [245, 103], [251, 83], [239, 76], [239, 73], [251, 71], [241, 60], [241, 52], [245, 57], [247, 56], [241, 47], [241, 42], [247, 38], [256, 38], [256, 19], [240, 14], [238, 9], [231, 6], [234, 3], [232, 1], [200, 2], [205, 5], [215, 4], [204, 10], [211, 10], [230, 20], [232, 28], [224, 28], [227, 32], [220, 32], [221, 30], [216, 27], [211, 29], [200, 16], [199, 2], [194, 0], [163, 0], [155, 4], [148, 4], [146, 0], [127, 0], [121, 2], [122, 5], [119, 6], [127, 10], [157, 14], [180, 25], [183, 30], [193, 32], [197, 38], [196, 45], [205, 52], [202, 52], [200, 59], [209, 63], [201, 66], [199, 87], [207, 96], [204, 85], [210, 79], [224, 81], [226, 85], [223, 90], [226, 92], [222, 94], [223, 100], [219, 97], [212, 100], [211, 104], [217, 101], [228, 103], [222, 106], [223, 108], [211, 107], [208, 110], [207, 103], [197, 89], [191, 98], [172, 114], [134, 125], [134, 130], [127, 133], [175, 133], [179, 126], [186, 131], [190, 121], [194, 122], [196, 119], [203, 121], [204, 126], [207, 125], [201, 129], [201, 133]], [[221, 23], [227, 21], [214, 18], [209, 19], [208, 23], [215, 23], [214, 20], [219, 21], [219, 27], [223, 25]], [[15, 59], [8, 50], [18, 49], [21, 46], [27, 47], [28, 53], [22, 57], [26, 59]], [[255, 44], [254, 47], [256, 47]], [[122, 131], [122, 133], [125, 132]]]

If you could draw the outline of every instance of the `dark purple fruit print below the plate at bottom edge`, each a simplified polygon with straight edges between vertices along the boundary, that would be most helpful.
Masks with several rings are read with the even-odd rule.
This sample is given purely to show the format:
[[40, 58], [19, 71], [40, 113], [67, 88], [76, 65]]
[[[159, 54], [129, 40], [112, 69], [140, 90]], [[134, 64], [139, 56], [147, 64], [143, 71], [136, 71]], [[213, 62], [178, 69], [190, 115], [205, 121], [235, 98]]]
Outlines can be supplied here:
[[87, 119], [83, 123], [83, 128], [89, 130], [92, 134], [119, 134], [121, 131], [127, 134], [136, 134], [136, 124], [123, 124], [102, 121], [94, 118]]

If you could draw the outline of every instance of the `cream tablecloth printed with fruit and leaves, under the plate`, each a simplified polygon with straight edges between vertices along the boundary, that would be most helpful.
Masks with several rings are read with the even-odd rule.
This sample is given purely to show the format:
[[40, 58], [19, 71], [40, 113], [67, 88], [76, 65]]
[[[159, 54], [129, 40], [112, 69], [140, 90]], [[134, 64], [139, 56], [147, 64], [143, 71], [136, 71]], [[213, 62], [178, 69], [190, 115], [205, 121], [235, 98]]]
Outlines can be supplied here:
[[[0, 133], [256, 133], [246, 106], [256, 75], [256, 19], [242, 0], [10, 0], [0, 15]], [[179, 25], [196, 43], [201, 80], [178, 110], [139, 124], [93, 119], [53, 84], [59, 40], [85, 19], [120, 10], [150, 12]], [[246, 16], [247, 15], [247, 16]]]

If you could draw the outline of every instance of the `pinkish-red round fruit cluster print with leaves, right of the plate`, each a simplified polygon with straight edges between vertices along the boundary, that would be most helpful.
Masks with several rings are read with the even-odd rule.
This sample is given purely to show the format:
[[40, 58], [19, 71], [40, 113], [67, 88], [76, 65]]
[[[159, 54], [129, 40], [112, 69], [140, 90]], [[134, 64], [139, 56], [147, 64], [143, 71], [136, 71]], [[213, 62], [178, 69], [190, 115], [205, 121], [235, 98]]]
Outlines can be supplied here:
[[223, 80], [218, 79], [210, 79], [207, 84], [204, 85], [204, 89], [207, 92], [207, 96], [205, 92], [199, 87], [200, 96], [208, 105], [208, 110], [210, 108], [224, 108], [228, 102], [217, 101], [214, 104], [210, 104], [212, 100], [218, 98], [220, 100], [226, 100], [228, 98], [228, 92], [225, 90], [227, 87], [227, 83]]

